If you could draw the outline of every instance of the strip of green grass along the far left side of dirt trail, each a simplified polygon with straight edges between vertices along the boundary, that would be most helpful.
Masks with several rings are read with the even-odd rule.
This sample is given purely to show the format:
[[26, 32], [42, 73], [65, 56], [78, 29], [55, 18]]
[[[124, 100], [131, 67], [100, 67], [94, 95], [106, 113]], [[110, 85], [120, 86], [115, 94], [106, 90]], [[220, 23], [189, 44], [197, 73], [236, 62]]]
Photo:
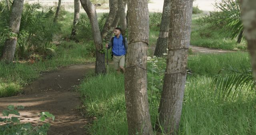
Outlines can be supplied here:
[[87, 50], [89, 46], [92, 45], [63, 42], [52, 59], [38, 61], [34, 64], [28, 62], [0, 63], [0, 97], [16, 95], [24, 85], [38, 78], [41, 71], [50, 71], [71, 64], [93, 62], [95, 58]]

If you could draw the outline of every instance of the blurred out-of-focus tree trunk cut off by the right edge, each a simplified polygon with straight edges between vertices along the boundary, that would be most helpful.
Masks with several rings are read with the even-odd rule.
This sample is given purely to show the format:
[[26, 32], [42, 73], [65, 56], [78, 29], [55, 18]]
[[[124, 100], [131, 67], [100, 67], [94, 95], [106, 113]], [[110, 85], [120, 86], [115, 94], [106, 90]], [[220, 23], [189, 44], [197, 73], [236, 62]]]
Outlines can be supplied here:
[[244, 23], [245, 38], [251, 55], [252, 71], [256, 80], [256, 1], [241, 0], [241, 13]]

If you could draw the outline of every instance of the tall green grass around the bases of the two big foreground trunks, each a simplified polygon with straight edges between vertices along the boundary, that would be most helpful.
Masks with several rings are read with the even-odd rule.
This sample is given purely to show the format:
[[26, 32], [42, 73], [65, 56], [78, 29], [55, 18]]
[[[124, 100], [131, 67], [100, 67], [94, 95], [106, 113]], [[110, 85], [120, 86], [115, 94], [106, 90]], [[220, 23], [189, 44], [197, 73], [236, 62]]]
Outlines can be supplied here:
[[[163, 63], [156, 62], [155, 64], [158, 68], [165, 66]], [[242, 94], [235, 100], [224, 102], [218, 101], [218, 98], [214, 97], [214, 90], [210, 89], [212, 75], [218, 73], [219, 69], [230, 65], [237, 68], [250, 66], [248, 54], [237, 52], [189, 56], [188, 67], [193, 74], [188, 74], [186, 80], [180, 135], [256, 133], [254, 94]], [[151, 66], [148, 65], [148, 67]], [[159, 74], [152, 75], [148, 71], [148, 87], [158, 85], [160, 80], [153, 82], [150, 79], [154, 80], [154, 77], [157, 78]], [[87, 115], [96, 117], [87, 128], [89, 133], [94, 135], [128, 134], [123, 74], [114, 72], [108, 75], [90, 76], [90, 79], [84, 80], [80, 91]], [[148, 92], [152, 125], [158, 117], [160, 91], [153, 94], [157, 96], [154, 98], [151, 90]]]

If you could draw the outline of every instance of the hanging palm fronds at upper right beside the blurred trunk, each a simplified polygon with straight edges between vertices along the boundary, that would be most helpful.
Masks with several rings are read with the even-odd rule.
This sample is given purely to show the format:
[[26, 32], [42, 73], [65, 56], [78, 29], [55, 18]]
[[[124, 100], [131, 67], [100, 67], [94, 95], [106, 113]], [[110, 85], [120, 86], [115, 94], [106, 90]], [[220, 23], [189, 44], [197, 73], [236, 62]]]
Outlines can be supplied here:
[[232, 39], [238, 37], [239, 40], [244, 35], [240, 12], [240, 0], [222, 0], [216, 6], [224, 13], [225, 18], [219, 21], [227, 22], [222, 28], [221, 33], [228, 34]]

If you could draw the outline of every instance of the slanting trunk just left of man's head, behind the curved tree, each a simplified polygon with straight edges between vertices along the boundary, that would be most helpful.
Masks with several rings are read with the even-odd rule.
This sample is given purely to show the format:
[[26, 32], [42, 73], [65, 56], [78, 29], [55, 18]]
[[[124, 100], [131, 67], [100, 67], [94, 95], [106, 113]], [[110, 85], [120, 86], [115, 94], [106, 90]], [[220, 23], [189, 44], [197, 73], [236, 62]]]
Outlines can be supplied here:
[[[106, 20], [106, 23], [102, 29], [101, 32], [101, 38], [102, 40], [106, 39], [106, 36], [108, 34], [108, 31], [111, 28], [111, 24], [115, 21], [117, 11], [117, 0], [109, 0], [109, 13], [108, 13], [108, 19]], [[109, 39], [109, 38], [107, 38]]]

